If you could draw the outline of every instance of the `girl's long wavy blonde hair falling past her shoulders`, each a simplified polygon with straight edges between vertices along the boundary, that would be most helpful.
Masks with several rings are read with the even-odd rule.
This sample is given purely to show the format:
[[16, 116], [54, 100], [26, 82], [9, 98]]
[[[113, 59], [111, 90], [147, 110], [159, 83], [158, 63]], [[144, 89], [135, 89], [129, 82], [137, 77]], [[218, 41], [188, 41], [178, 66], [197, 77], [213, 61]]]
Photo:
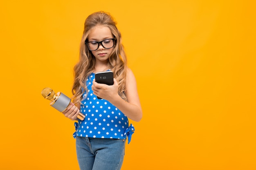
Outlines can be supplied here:
[[[108, 26], [113, 36], [116, 38], [114, 49], [109, 57], [108, 68], [114, 73], [114, 77], [119, 84], [118, 93], [122, 99], [126, 100], [126, 54], [121, 43], [121, 33], [117, 29], [116, 22], [109, 13], [99, 11], [92, 13], [86, 18], [84, 23], [83, 36], [80, 44], [79, 62], [74, 66], [74, 84], [72, 87], [73, 102], [80, 104], [83, 93], [88, 91], [86, 79], [90, 78], [95, 66], [95, 57], [85, 46], [90, 30], [97, 25]], [[87, 94], [87, 93], [86, 93]]]

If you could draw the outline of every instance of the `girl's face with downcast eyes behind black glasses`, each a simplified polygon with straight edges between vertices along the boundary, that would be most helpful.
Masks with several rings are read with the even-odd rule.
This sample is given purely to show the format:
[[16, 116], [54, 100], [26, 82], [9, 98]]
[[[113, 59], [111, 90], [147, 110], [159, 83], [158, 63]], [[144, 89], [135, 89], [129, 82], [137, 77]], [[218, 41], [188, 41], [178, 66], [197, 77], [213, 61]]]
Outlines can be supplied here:
[[[113, 35], [108, 26], [97, 25], [90, 30], [90, 33], [88, 35], [88, 42], [90, 42], [92, 46], [97, 46], [97, 42], [106, 40], [102, 42], [103, 46], [109, 48], [108, 45], [114, 43], [113, 40], [107, 40], [110, 38], [113, 38]], [[103, 46], [102, 44], [99, 44], [99, 48], [95, 51], [92, 51], [96, 62], [107, 62], [112, 50], [114, 49], [113, 47], [110, 49], [106, 49]]]

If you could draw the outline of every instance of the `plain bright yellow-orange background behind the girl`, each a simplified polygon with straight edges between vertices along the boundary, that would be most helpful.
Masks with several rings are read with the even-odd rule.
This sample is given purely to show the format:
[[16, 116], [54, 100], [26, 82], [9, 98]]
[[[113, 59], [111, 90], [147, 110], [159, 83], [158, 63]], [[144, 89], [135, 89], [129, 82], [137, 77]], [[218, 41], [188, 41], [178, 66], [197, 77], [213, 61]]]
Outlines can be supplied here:
[[2, 0], [0, 169], [78, 170], [71, 96], [85, 18], [117, 20], [144, 117], [122, 170], [256, 169], [256, 12], [249, 0]]

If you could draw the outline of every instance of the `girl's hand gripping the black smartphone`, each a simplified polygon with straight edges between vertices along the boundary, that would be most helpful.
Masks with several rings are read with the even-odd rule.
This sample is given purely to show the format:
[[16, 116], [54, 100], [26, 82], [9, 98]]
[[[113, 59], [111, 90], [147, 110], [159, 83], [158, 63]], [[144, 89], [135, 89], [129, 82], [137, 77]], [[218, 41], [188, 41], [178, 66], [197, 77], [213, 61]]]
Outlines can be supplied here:
[[110, 86], [106, 84], [97, 83], [95, 82], [95, 80], [93, 80], [92, 82], [93, 94], [97, 95], [98, 97], [101, 97], [102, 99], [106, 99], [109, 102], [113, 97], [118, 95], [118, 87], [119, 85], [115, 78], [114, 78], [114, 84]]

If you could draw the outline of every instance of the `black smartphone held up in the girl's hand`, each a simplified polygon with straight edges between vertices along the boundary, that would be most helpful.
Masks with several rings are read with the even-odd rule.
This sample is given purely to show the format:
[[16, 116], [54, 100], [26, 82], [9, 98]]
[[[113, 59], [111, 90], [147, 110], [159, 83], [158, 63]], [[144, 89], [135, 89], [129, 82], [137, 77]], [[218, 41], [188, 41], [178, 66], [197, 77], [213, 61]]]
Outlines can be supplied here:
[[[113, 85], [113, 72], [112, 71], [103, 71], [95, 73], [95, 82], [107, 85]], [[97, 96], [98, 99], [101, 99]]]

